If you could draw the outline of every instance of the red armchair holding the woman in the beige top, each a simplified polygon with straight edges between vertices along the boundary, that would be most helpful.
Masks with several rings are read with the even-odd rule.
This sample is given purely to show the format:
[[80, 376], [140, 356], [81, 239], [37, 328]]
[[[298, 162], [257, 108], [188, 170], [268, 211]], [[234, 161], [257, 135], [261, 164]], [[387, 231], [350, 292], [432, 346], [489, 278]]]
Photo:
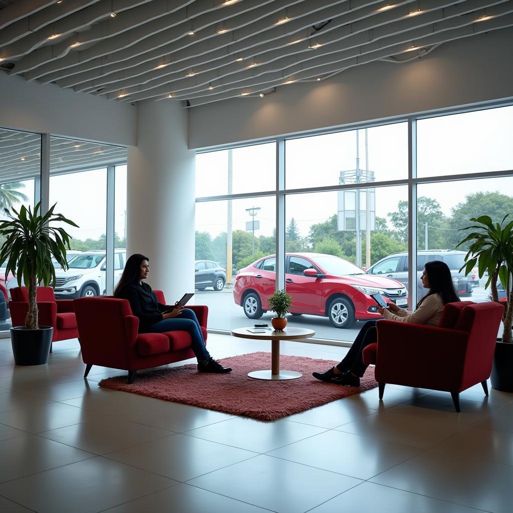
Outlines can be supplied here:
[[497, 303], [462, 301], [445, 305], [439, 327], [378, 321], [378, 342], [365, 347], [363, 361], [376, 364], [380, 399], [386, 383], [450, 392], [456, 411], [463, 390], [481, 383], [488, 395], [503, 312]]

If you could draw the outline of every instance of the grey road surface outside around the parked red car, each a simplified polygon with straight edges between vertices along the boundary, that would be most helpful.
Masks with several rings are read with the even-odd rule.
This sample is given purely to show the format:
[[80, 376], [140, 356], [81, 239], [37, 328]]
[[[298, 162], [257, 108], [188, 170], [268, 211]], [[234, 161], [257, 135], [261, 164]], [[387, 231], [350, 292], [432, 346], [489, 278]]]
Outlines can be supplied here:
[[[267, 312], [258, 321], [248, 319], [244, 315], [242, 307], [234, 303], [232, 290], [227, 288], [222, 292], [214, 292], [213, 290], [200, 292], [196, 290], [194, 299], [196, 305], [208, 306], [208, 327], [212, 329], [231, 330], [233, 328], [252, 326], [255, 322], [264, 322], [270, 326], [271, 318], [274, 315], [271, 312]], [[474, 301], [476, 303], [488, 301], [488, 291], [485, 291], [483, 286], [476, 287], [472, 289], [472, 296], [470, 298], [462, 298], [462, 300]], [[290, 326], [315, 330], [315, 338], [348, 342], [354, 340], [363, 325], [363, 322], [357, 322], [350, 329], [334, 328], [327, 317], [318, 317], [317, 315], [301, 315], [299, 317], [287, 315], [287, 322]]]

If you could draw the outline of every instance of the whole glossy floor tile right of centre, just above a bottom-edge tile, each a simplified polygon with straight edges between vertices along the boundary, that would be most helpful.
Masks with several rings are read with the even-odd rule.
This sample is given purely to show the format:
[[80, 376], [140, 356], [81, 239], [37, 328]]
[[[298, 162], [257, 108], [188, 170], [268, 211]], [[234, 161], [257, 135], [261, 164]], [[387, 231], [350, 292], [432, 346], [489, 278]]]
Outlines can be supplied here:
[[268, 452], [268, 455], [369, 479], [419, 452], [421, 449], [417, 447], [331, 430]]

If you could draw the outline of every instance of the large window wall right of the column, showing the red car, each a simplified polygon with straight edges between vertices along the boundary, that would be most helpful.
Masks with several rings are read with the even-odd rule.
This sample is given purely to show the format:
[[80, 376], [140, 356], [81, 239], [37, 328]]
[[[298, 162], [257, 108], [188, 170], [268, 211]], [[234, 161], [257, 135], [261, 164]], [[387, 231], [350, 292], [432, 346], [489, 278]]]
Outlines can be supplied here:
[[[212, 260], [226, 272], [229, 245], [226, 235], [222, 241], [219, 235], [229, 219], [230, 195], [250, 216], [245, 235], [253, 221], [263, 221], [257, 203], [264, 199], [255, 194], [267, 192], [265, 201], [280, 212], [279, 219], [272, 215], [272, 233], [258, 233], [242, 262], [232, 250], [233, 290], [223, 287], [231, 301], [212, 309], [209, 321], [225, 330], [257, 319], [269, 323], [266, 299], [276, 286], [277, 229], [285, 234], [280, 258], [292, 295], [288, 322], [314, 329], [319, 338], [354, 340], [361, 320], [373, 315], [371, 293], [415, 305], [426, 292], [420, 275], [433, 260], [447, 263], [462, 299], [488, 301], [487, 277], [480, 280], [477, 269], [468, 276], [460, 271], [468, 248], [458, 243], [470, 218], [487, 214], [500, 223], [513, 213], [511, 133], [513, 106], [504, 106], [199, 153], [196, 259]], [[266, 146], [267, 165], [262, 165], [255, 155]], [[235, 186], [236, 152], [250, 162], [240, 168], [245, 175]], [[277, 183], [284, 185], [277, 190]], [[409, 194], [416, 204], [409, 204]], [[285, 207], [277, 209], [280, 198]], [[417, 223], [412, 241], [410, 215]], [[218, 232], [212, 228], [216, 223]], [[221, 249], [209, 252], [215, 239]], [[416, 253], [415, 271], [409, 269], [409, 250]], [[207, 264], [205, 269], [197, 264], [195, 274], [208, 273]], [[196, 277], [199, 291], [209, 290], [205, 283]], [[204, 298], [199, 302], [209, 304]]]

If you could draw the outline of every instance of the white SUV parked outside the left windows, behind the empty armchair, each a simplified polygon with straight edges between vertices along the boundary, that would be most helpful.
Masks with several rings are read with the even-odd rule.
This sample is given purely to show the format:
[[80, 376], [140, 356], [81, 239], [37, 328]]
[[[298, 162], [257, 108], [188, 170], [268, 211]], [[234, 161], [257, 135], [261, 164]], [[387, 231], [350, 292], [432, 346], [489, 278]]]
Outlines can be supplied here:
[[[114, 286], [120, 281], [126, 249], [114, 249]], [[106, 293], [105, 251], [84, 251], [69, 262], [67, 271], [55, 272], [55, 298], [75, 299]]]

